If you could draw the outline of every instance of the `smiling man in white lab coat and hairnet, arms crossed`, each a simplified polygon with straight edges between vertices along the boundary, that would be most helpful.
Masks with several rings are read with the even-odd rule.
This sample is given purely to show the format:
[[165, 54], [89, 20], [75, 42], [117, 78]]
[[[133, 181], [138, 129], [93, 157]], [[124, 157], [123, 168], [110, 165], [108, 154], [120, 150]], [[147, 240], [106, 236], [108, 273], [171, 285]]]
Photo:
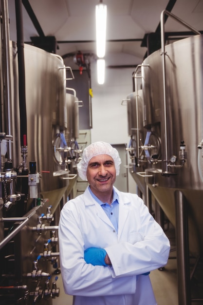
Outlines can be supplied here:
[[110, 144], [89, 145], [77, 166], [89, 187], [61, 210], [61, 273], [74, 305], [157, 304], [148, 274], [166, 265], [170, 244], [143, 200], [113, 186], [120, 163]]

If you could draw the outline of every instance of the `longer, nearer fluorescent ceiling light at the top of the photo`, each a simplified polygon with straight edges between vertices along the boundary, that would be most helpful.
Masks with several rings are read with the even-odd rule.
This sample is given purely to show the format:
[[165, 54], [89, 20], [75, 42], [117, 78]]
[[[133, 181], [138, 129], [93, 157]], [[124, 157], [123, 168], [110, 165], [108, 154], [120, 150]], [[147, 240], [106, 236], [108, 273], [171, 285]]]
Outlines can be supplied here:
[[105, 56], [107, 29], [107, 5], [100, 3], [96, 5], [96, 55], [99, 58]]

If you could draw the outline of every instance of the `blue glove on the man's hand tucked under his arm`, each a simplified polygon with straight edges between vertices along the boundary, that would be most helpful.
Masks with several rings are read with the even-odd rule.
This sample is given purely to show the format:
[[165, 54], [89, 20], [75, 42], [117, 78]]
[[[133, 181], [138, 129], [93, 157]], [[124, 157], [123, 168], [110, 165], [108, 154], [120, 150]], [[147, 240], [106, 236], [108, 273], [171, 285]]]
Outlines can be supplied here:
[[84, 252], [84, 259], [87, 264], [92, 264], [93, 266], [108, 266], [104, 261], [106, 254], [105, 249], [88, 248]]

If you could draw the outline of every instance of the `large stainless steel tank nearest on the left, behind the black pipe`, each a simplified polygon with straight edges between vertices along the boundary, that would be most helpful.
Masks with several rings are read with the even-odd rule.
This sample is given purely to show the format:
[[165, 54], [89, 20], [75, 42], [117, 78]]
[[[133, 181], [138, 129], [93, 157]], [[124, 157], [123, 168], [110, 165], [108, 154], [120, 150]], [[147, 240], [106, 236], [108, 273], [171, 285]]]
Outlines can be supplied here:
[[[15, 42], [10, 45], [13, 104], [14, 166], [21, 160], [18, 109], [18, 58]], [[53, 141], [67, 128], [66, 70], [63, 59], [31, 45], [24, 45], [27, 113], [27, 165], [36, 161], [40, 193], [51, 204], [60, 201], [68, 186], [61, 177], [67, 172], [54, 161]], [[23, 120], [23, 118], [20, 118]]]

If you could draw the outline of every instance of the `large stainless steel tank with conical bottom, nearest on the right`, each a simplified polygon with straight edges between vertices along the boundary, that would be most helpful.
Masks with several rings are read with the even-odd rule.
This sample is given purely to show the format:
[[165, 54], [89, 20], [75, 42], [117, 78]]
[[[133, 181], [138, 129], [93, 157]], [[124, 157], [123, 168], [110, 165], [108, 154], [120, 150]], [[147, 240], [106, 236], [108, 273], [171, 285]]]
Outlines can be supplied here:
[[183, 192], [190, 210], [190, 251], [195, 255], [203, 252], [200, 216], [203, 213], [203, 180], [197, 148], [203, 138], [202, 47], [203, 36], [185, 38], [166, 46], [166, 134], [160, 51], [144, 60], [146, 67], [142, 74], [144, 126], [156, 130], [161, 138], [162, 151], [160, 162], [151, 162], [148, 166], [151, 173], [148, 187], [174, 225], [174, 191]]

